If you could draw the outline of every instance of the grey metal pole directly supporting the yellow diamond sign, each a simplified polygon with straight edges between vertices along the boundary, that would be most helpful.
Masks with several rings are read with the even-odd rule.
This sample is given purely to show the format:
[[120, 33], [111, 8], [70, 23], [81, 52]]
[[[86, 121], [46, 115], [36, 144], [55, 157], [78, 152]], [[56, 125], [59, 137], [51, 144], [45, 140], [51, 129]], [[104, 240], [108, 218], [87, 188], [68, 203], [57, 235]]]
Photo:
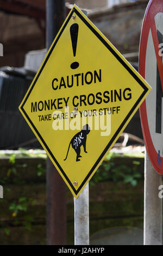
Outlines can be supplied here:
[[74, 244], [89, 245], [89, 183], [74, 198]]

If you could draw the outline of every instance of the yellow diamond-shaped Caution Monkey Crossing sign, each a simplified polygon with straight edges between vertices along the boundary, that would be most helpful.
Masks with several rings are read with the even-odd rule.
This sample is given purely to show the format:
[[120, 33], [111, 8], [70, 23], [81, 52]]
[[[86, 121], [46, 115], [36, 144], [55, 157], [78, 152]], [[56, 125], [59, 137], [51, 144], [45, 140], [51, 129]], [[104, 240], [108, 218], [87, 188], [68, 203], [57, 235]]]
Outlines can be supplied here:
[[77, 198], [150, 89], [74, 5], [19, 109]]

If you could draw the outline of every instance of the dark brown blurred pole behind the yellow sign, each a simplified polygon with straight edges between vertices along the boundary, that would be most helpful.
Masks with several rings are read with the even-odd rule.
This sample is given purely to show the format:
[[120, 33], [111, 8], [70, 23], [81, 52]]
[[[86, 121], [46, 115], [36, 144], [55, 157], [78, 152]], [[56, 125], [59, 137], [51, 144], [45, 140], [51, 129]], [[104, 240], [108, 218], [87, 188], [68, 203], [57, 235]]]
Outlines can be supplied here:
[[[46, 0], [46, 47], [49, 49], [65, 20], [65, 0]], [[66, 185], [47, 159], [47, 245], [66, 244]]]

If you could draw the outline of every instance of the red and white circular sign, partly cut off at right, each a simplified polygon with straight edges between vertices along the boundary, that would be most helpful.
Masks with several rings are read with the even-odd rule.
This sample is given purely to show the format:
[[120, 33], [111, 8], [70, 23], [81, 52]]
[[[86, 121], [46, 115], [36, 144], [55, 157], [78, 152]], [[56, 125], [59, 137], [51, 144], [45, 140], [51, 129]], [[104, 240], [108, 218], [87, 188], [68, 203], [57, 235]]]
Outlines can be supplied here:
[[152, 0], [143, 20], [139, 73], [152, 90], [140, 107], [143, 136], [154, 169], [163, 174], [163, 1]]

